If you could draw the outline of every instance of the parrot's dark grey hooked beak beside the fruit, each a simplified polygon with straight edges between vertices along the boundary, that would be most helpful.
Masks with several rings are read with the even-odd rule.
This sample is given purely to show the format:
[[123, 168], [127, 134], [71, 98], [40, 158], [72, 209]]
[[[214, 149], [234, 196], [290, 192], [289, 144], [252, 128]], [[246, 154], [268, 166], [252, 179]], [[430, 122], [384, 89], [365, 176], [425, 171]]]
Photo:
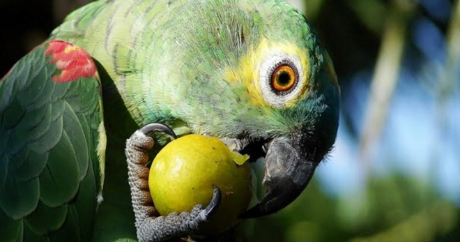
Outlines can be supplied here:
[[[257, 218], [276, 213], [291, 204], [305, 189], [323, 156], [305, 142], [303, 135], [277, 137], [270, 142], [266, 154], [263, 186], [265, 197], [240, 218]], [[312, 149], [313, 148], [313, 149]], [[312, 153], [314, 152], [314, 153]]]

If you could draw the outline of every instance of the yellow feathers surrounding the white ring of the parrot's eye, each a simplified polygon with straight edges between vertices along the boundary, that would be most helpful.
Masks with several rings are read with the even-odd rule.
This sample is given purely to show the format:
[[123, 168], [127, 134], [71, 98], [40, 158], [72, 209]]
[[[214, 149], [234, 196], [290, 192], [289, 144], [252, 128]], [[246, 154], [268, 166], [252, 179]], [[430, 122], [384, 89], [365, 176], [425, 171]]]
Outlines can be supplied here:
[[[262, 38], [258, 45], [248, 48], [247, 55], [242, 56], [239, 63], [233, 68], [227, 67], [224, 70], [224, 77], [230, 83], [243, 84], [247, 89], [250, 97], [250, 102], [259, 107], [270, 107], [266, 99], [263, 97], [260, 85], [260, 70], [263, 61], [270, 56], [270, 54], [286, 54], [295, 56], [300, 60], [300, 67], [303, 72], [304, 80], [297, 80], [302, 83], [301, 90], [296, 98], [289, 100], [285, 103], [284, 107], [292, 107], [298, 100], [305, 97], [309, 90], [309, 62], [305, 50], [301, 50], [293, 43], [279, 43], [272, 42], [266, 38]], [[276, 66], [275, 66], [276, 67]], [[274, 68], [275, 68], [274, 67]], [[268, 77], [271, 77], [269, 75]]]

